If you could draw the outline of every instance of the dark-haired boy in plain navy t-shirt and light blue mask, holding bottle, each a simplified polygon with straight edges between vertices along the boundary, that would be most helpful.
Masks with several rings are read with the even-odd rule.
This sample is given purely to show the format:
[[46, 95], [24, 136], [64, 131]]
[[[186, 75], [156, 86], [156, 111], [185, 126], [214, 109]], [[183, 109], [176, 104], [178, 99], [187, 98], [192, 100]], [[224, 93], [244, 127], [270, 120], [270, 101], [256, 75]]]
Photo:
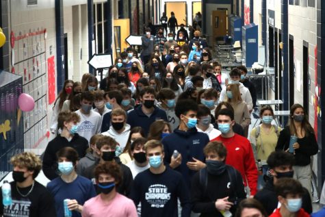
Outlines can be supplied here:
[[83, 203], [96, 196], [92, 182], [85, 177], [77, 175], [75, 167], [78, 161], [78, 153], [71, 147], [65, 147], [57, 152], [57, 164], [61, 173], [47, 183], [47, 189], [51, 192], [57, 216], [64, 216], [65, 199], [68, 201], [68, 209], [73, 217], [81, 217]]

